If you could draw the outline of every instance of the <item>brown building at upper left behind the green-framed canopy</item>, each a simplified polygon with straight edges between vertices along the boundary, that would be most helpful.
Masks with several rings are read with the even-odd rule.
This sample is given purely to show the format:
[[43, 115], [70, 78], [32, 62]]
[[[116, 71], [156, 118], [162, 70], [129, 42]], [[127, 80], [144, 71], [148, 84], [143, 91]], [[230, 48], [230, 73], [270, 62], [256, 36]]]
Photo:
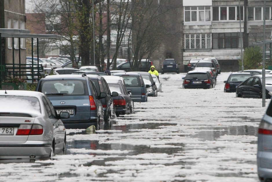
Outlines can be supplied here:
[[[14, 1], [0, 0], [0, 28], [25, 29], [25, 0]], [[2, 65], [12, 63], [12, 51], [14, 51], [14, 61], [19, 63], [19, 49], [21, 49], [21, 63], [25, 63], [26, 46], [25, 39], [14, 38], [12, 48], [12, 38], [2, 38]]]

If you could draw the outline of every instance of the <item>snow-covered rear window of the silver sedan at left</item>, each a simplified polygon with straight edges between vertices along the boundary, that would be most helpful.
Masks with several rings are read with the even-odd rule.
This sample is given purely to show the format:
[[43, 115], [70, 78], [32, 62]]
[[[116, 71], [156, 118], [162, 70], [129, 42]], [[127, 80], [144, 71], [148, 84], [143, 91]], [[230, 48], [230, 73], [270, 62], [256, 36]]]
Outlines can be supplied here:
[[38, 98], [27, 96], [0, 96], [0, 112], [41, 113]]

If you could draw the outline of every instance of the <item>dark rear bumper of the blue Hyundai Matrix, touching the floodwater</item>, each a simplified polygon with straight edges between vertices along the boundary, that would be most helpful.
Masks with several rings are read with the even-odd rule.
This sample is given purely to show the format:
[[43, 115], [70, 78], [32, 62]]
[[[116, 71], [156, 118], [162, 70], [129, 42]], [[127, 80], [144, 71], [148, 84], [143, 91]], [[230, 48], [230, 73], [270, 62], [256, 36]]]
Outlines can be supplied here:
[[86, 129], [91, 125], [96, 125], [98, 117], [91, 117], [86, 121], [63, 121], [66, 129]]

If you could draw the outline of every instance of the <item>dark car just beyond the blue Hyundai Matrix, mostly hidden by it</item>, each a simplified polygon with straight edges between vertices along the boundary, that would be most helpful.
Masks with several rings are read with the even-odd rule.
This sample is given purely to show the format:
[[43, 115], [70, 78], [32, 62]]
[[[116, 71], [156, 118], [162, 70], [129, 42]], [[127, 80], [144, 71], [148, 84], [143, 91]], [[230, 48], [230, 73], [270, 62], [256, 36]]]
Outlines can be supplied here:
[[111, 93], [109, 86], [103, 77], [93, 74], [88, 74], [87, 77], [91, 78], [98, 95], [100, 95], [101, 92], [104, 92], [107, 95], [107, 97], [101, 98], [100, 101], [104, 110], [104, 121], [108, 122], [110, 118], [114, 118], [115, 107], [112, 97], [118, 96], [118, 93]]

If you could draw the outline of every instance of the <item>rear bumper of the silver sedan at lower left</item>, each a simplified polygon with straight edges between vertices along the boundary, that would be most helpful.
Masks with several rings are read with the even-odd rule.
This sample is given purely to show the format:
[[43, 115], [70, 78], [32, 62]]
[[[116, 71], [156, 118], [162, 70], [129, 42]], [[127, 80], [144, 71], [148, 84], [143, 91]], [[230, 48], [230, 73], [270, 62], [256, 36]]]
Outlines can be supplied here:
[[37, 159], [49, 157], [51, 142], [26, 141], [25, 143], [0, 143], [0, 159]]

